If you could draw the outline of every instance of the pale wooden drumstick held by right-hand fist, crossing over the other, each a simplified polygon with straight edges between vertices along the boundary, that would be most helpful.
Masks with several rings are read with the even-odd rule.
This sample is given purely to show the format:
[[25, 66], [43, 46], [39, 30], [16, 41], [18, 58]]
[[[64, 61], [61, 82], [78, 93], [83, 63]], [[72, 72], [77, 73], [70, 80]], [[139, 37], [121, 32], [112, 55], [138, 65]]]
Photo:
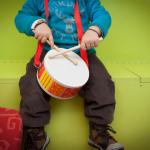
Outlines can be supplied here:
[[[102, 41], [102, 40], [103, 40], [103, 38], [101, 37], [101, 38], [99, 39], [99, 41]], [[71, 52], [71, 51], [74, 51], [74, 50], [77, 50], [77, 49], [80, 49], [80, 48], [81, 48], [81, 45], [79, 44], [79, 45], [74, 46], [74, 47], [72, 47], [72, 48], [66, 49], [65, 51], [58, 52], [58, 53], [55, 54], [55, 55], [49, 56], [49, 58], [54, 58], [54, 57], [56, 57], [56, 56], [63, 55], [63, 54], [65, 54], [65, 53], [68, 53], [68, 52]]]

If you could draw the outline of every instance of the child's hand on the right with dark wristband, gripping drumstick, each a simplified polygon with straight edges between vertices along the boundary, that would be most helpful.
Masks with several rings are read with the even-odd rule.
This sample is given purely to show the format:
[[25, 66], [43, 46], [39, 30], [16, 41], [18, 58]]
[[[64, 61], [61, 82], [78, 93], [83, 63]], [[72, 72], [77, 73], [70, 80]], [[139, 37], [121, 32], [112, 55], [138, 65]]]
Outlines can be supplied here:
[[83, 49], [90, 49], [98, 46], [100, 38], [99, 35], [101, 35], [101, 31], [96, 26], [92, 26], [90, 29], [94, 29], [97, 33], [92, 30], [87, 30], [85, 32], [81, 41], [81, 48]]

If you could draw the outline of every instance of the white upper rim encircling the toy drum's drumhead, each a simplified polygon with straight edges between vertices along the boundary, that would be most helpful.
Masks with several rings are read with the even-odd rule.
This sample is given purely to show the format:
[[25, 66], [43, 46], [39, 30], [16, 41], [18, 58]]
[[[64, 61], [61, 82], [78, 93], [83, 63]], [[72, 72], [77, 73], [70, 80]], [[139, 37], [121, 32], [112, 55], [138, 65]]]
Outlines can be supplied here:
[[[53, 49], [52, 49], [53, 50]], [[77, 55], [75, 52], [70, 52], [70, 53], [74, 53], [75, 55]], [[48, 55], [48, 53], [46, 54], [46, 56]], [[78, 56], [78, 55], [77, 55]], [[79, 56], [80, 57], [80, 56]], [[81, 88], [82, 86], [84, 86], [86, 83], [87, 83], [87, 81], [89, 80], [89, 68], [88, 68], [88, 66], [86, 66], [87, 67], [87, 70], [88, 70], [88, 77], [87, 77], [87, 80], [85, 80], [85, 82], [84, 82], [84, 84], [82, 84], [82, 85], [80, 85], [80, 86], [69, 86], [69, 85], [65, 85], [65, 84], [63, 84], [63, 83], [61, 83], [61, 82], [59, 82], [58, 80], [56, 80], [47, 70], [47, 68], [45, 67], [45, 59], [46, 59], [46, 57], [44, 57], [44, 61], [43, 61], [43, 65], [44, 65], [44, 69], [45, 69], [45, 71], [47, 72], [47, 74], [54, 80], [54, 81], [56, 81], [58, 84], [60, 84], [60, 85], [62, 85], [63, 87], [66, 87], [66, 88], [72, 88], [72, 89], [75, 89], [75, 88]], [[81, 59], [82, 60], [82, 59]], [[83, 60], [82, 60], [83, 61]], [[83, 61], [84, 62], [84, 61]], [[85, 62], [84, 62], [85, 63]]]

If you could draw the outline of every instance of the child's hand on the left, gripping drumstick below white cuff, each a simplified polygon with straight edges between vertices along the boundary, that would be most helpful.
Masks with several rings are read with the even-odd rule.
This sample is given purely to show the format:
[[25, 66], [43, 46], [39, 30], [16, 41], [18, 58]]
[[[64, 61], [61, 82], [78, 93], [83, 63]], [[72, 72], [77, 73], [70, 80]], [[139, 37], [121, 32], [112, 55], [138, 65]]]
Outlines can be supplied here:
[[48, 27], [46, 23], [42, 23], [38, 25], [34, 30], [34, 37], [41, 41], [42, 43], [46, 43], [48, 40], [50, 42], [51, 47], [54, 46], [53, 36], [51, 29]]

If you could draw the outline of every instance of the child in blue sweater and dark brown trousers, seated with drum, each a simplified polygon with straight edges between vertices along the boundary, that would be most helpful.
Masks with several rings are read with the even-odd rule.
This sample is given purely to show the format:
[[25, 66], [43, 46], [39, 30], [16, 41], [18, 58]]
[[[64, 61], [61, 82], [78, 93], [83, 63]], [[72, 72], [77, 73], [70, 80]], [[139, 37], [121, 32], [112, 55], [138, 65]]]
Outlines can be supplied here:
[[[109, 13], [99, 0], [49, 0], [48, 8], [50, 15], [46, 20], [44, 0], [27, 0], [15, 18], [16, 27], [41, 43], [50, 42], [50, 46], [44, 44], [40, 57], [42, 61], [54, 43], [64, 48], [78, 44], [82, 29], [76, 23], [80, 17], [75, 16], [79, 11], [79, 22], [84, 30], [80, 42], [82, 50], [87, 50], [90, 72], [88, 82], [80, 91], [84, 98], [85, 116], [89, 120], [88, 143], [99, 150], [123, 150], [123, 146], [108, 132], [113, 131], [109, 124], [115, 109], [114, 83], [94, 49], [98, 46], [99, 38], [107, 35], [111, 25]], [[76, 53], [80, 54], [80, 51]], [[24, 125], [22, 146], [25, 150], [44, 150], [49, 143], [44, 126], [50, 120], [50, 96], [38, 85], [36, 71], [32, 58], [19, 82], [20, 112]]]

